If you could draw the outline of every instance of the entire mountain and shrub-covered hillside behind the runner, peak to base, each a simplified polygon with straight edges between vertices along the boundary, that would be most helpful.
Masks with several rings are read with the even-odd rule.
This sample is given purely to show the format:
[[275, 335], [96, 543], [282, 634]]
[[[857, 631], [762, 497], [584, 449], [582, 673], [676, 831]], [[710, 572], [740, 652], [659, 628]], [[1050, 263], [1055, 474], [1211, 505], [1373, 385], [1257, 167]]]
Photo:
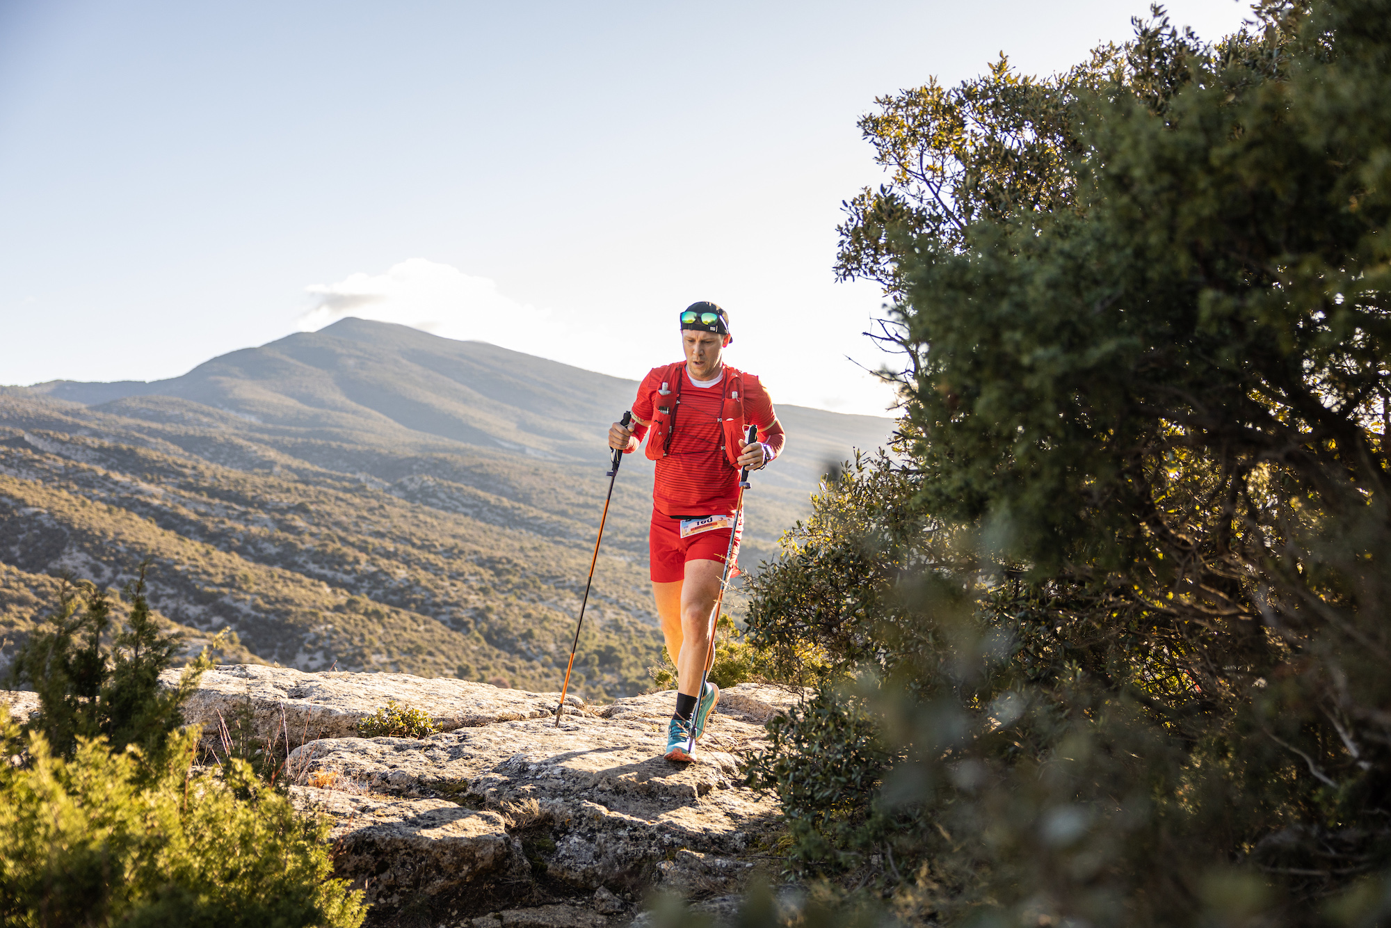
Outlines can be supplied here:
[[[556, 689], [608, 487], [606, 424], [634, 391], [360, 320], [174, 381], [3, 390], [3, 654], [58, 573], [118, 587], [149, 558], [150, 604], [195, 648], [228, 629], [232, 659]], [[804, 515], [822, 463], [890, 426], [780, 413], [794, 451], [751, 494], [750, 566]], [[576, 665], [591, 698], [640, 691], [658, 664], [650, 494], [650, 462], [630, 455]]]

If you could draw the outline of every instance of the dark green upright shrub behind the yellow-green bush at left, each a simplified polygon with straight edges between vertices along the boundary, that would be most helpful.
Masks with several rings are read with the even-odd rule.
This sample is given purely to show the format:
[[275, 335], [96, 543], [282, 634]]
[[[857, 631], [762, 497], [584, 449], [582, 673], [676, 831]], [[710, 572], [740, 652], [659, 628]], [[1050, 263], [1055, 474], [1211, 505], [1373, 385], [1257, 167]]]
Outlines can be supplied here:
[[206, 657], [185, 672], [175, 689], [159, 685], [179, 650], [179, 637], [163, 634], [145, 598], [142, 563], [127, 584], [129, 618], [111, 646], [111, 602], [92, 583], [60, 587], [58, 608], [29, 636], [10, 668], [11, 680], [39, 693], [39, 730], [58, 754], [71, 755], [79, 737], [104, 737], [113, 750], [135, 744], [147, 754], [164, 750], [182, 725], [179, 704], [198, 686]]

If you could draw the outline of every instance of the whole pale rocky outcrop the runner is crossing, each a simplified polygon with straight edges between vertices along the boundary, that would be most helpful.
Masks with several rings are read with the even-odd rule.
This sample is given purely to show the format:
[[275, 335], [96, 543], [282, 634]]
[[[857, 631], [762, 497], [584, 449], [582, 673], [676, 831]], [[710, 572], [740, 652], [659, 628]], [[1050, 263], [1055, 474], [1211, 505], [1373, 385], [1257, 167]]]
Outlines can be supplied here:
[[[780, 826], [776, 803], [741, 785], [739, 761], [798, 696], [726, 690], [686, 765], [662, 758], [670, 693], [568, 700], [556, 725], [558, 696], [224, 666], [188, 717], [217, 725], [241, 712], [267, 743], [288, 733], [295, 801], [332, 819], [335, 870], [366, 889], [371, 924], [618, 927], [654, 889], [737, 892]], [[444, 730], [356, 737], [357, 719], [388, 698]]]

